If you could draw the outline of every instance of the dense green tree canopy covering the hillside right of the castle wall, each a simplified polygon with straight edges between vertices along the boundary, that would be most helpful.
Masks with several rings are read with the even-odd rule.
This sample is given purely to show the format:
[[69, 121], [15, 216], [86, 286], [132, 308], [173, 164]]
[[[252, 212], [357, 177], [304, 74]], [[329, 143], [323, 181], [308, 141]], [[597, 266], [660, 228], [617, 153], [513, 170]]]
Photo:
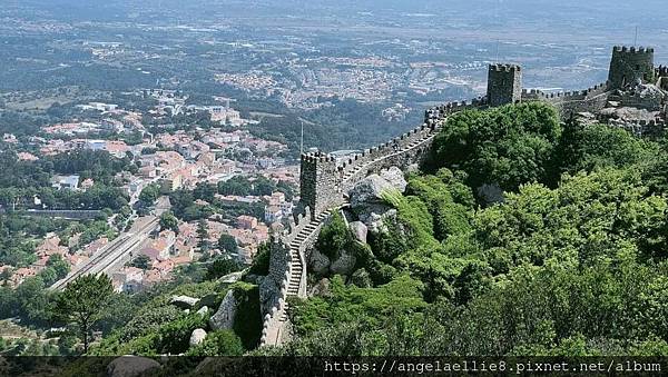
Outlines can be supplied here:
[[[297, 336], [277, 353], [667, 355], [666, 161], [662, 140], [562, 126], [547, 105], [458, 113], [428, 173], [385, 192], [397, 214], [355, 271], [288, 306]], [[500, 201], [479, 205], [484, 183]], [[350, 242], [334, 218], [316, 248]]]

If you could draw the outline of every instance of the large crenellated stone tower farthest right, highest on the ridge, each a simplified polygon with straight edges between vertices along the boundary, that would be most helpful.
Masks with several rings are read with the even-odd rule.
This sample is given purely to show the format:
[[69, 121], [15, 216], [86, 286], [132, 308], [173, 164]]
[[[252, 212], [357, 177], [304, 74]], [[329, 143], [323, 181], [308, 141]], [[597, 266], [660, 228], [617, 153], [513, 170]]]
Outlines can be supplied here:
[[638, 79], [647, 82], [652, 79], [654, 49], [616, 46], [612, 49], [610, 60], [610, 73], [608, 81], [611, 89], [622, 89], [627, 85], [635, 83]]

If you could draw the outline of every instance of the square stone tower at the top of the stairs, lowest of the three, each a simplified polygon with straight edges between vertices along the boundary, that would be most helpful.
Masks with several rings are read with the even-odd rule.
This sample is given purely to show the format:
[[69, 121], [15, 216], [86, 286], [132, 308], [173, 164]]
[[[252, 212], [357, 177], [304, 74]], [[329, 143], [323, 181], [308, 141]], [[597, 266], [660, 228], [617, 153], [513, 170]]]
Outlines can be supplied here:
[[302, 155], [299, 196], [302, 204], [317, 216], [343, 201], [338, 192], [336, 159], [322, 152]]

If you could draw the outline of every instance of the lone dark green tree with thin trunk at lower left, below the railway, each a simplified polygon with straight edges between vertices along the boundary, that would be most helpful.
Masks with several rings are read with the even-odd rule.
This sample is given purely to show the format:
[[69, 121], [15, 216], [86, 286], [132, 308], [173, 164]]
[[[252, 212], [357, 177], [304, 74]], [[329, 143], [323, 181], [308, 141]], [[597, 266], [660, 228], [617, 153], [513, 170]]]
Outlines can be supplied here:
[[58, 318], [78, 327], [85, 354], [88, 353], [90, 330], [100, 318], [112, 292], [111, 279], [107, 275], [84, 275], [56, 297]]

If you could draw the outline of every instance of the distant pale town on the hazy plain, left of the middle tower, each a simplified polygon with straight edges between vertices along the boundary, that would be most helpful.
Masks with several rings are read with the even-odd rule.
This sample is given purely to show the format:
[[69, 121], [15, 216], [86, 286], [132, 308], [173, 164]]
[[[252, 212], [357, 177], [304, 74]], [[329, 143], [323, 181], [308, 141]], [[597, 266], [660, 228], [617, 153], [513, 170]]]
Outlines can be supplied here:
[[[434, 46], [413, 46], [403, 42], [403, 49], [432, 54]], [[399, 46], [397, 46], [399, 47]], [[360, 102], [387, 102], [405, 99], [410, 93], [428, 96], [453, 87], [477, 87], [487, 61], [444, 63], [418, 61], [403, 63], [393, 57], [299, 57], [285, 58], [276, 68], [287, 75], [265, 72], [225, 72], [215, 79], [224, 85], [259, 98], [279, 98], [288, 108], [312, 110], [332, 106], [333, 98], [355, 99]], [[278, 70], [278, 69], [277, 69]], [[475, 88], [478, 89], [478, 88]], [[395, 109], [399, 110], [399, 109]], [[403, 111], [391, 108], [382, 116], [402, 120]]]

